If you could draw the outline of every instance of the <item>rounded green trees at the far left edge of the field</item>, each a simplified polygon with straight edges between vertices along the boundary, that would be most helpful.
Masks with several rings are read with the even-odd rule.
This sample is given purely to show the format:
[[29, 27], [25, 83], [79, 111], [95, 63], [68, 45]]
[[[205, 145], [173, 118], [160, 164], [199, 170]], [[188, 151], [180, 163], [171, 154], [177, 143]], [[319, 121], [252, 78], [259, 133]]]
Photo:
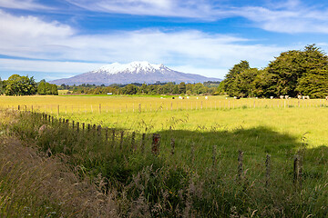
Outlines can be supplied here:
[[35, 79], [19, 74], [11, 75], [7, 80], [0, 79], [0, 94], [6, 95], [32, 95], [32, 94], [58, 94], [56, 84], [42, 81], [36, 84]]

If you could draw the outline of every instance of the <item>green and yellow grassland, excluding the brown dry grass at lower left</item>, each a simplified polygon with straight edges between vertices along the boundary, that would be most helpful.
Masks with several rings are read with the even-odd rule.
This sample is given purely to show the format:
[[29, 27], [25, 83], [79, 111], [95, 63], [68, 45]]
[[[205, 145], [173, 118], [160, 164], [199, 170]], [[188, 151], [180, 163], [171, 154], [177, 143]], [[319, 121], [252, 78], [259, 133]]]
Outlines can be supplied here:
[[[23, 112], [54, 116], [46, 123], [53, 130], [39, 138], [35, 132], [45, 123], [39, 114], [15, 115], [19, 122], [11, 129], [44, 152], [71, 156], [68, 163], [81, 167], [79, 173], [101, 173], [107, 188], [122, 193], [120, 214], [328, 215], [325, 100], [171, 97], [29, 96], [0, 103], [9, 114], [20, 105]], [[106, 136], [77, 133], [72, 121], [101, 125]], [[160, 135], [156, 155], [152, 134]]]

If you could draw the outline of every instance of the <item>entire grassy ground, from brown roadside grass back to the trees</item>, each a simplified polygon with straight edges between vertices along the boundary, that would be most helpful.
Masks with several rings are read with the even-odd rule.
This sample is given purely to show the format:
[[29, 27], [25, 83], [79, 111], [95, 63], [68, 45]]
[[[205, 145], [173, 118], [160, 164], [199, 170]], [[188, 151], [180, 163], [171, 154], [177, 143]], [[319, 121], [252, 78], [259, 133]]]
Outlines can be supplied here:
[[[0, 102], [7, 108], [0, 113], [1, 216], [328, 216], [323, 100], [32, 96]], [[12, 111], [17, 105], [21, 112]], [[54, 120], [25, 112], [32, 105]]]

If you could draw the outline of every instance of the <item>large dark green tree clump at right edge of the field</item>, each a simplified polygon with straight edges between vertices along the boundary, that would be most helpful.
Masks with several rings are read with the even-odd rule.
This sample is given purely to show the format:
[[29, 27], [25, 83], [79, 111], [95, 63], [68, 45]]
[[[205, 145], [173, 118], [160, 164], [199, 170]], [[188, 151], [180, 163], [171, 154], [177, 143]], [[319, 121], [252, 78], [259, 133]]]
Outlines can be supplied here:
[[247, 61], [235, 64], [219, 86], [230, 96], [328, 95], [328, 56], [315, 45], [283, 52], [263, 69]]

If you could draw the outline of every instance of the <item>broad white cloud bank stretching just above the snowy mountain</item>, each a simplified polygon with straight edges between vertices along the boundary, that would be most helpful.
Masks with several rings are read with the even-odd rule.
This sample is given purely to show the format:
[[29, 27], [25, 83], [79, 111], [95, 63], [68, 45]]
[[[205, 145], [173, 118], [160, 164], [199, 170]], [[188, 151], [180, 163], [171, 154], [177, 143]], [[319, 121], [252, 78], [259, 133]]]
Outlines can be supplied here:
[[[208, 76], [222, 78], [223, 69], [228, 71], [240, 60], [261, 67], [286, 50], [277, 46], [251, 45], [248, 39], [234, 35], [210, 35], [195, 30], [142, 29], [107, 35], [77, 35], [77, 31], [68, 25], [46, 23], [35, 16], [16, 17], [2, 11], [0, 25], [3, 26], [0, 29], [1, 54], [45, 60], [2, 59], [0, 67], [13, 71], [83, 73], [100, 66], [93, 63], [145, 60], [184, 66], [183, 69], [190, 72], [202, 71]], [[204, 69], [209, 70], [205, 73]], [[219, 74], [214, 74], [215, 69]]]

